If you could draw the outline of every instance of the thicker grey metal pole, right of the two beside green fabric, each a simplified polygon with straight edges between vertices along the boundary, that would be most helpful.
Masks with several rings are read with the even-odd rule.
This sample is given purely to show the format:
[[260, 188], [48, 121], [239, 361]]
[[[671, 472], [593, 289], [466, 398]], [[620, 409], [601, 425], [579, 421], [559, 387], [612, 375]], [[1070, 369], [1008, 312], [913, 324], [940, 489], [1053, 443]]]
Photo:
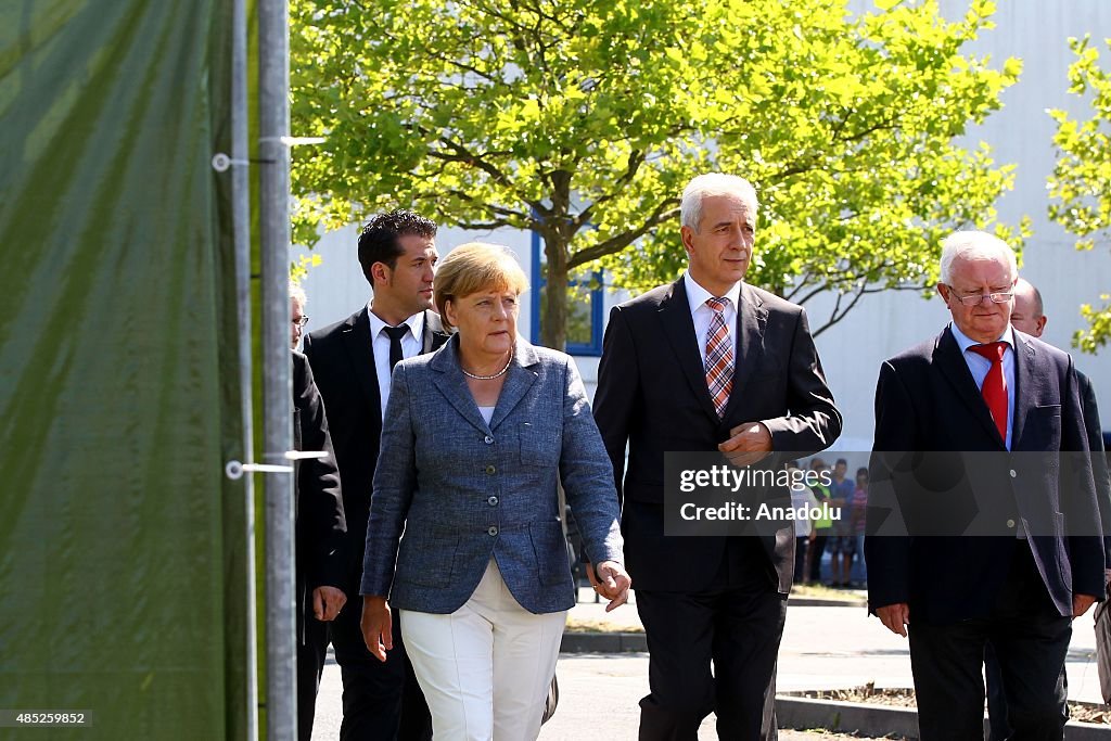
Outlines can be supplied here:
[[[259, 0], [263, 462], [293, 447], [289, 357], [289, 8]], [[297, 738], [293, 477], [266, 479], [267, 741]]]

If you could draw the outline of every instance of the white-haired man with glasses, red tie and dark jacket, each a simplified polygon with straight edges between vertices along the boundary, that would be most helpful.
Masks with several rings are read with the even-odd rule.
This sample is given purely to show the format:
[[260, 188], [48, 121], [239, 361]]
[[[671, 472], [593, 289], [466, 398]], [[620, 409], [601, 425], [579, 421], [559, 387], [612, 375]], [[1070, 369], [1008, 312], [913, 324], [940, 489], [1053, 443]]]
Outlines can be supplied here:
[[983, 738], [989, 641], [1011, 738], [1062, 739], [1071, 620], [1103, 597], [1075, 370], [1011, 328], [1017, 279], [1001, 240], [949, 237], [952, 323], [884, 362], [875, 391], [869, 609], [909, 625], [923, 741]]

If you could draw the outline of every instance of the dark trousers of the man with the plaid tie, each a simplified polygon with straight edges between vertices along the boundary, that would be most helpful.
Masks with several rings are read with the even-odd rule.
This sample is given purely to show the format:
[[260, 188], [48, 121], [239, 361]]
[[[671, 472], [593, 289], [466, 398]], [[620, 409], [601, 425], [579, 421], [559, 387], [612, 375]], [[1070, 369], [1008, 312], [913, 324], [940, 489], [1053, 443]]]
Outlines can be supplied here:
[[698, 593], [639, 591], [637, 610], [650, 652], [641, 741], [697, 741], [711, 712], [721, 739], [775, 738], [775, 659], [787, 617], [781, 594], [765, 582]]

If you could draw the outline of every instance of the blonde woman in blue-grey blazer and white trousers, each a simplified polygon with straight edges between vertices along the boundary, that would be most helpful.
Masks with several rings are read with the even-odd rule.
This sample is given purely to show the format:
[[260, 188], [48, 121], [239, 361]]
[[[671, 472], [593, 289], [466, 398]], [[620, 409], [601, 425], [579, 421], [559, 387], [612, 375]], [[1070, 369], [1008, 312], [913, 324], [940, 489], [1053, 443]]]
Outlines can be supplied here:
[[452, 250], [436, 304], [456, 333], [398, 364], [382, 428], [363, 637], [386, 661], [400, 613], [437, 739], [540, 732], [575, 603], [561, 485], [608, 609], [629, 594], [613, 472], [574, 362], [517, 334], [527, 287], [506, 248]]

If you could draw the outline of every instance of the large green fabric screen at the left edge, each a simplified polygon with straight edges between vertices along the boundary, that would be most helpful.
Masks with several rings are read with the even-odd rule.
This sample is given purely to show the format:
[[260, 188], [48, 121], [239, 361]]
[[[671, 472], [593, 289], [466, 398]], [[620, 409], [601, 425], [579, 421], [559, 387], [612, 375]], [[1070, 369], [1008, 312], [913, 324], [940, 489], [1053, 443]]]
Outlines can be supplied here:
[[244, 734], [224, 6], [0, 4], [0, 708], [92, 713], [50, 738]]

